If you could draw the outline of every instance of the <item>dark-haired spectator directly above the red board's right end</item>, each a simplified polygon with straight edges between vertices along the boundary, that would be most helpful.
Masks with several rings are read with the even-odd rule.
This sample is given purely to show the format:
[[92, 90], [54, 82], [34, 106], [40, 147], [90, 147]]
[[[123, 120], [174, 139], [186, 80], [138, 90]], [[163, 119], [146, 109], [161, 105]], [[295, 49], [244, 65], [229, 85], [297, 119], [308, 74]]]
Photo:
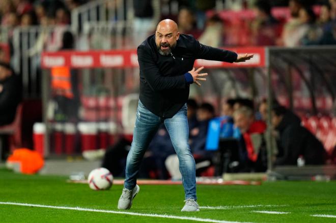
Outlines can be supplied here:
[[251, 44], [256, 46], [275, 45], [279, 36], [279, 22], [271, 14], [268, 0], [258, 0], [255, 3], [256, 18], [251, 23]]

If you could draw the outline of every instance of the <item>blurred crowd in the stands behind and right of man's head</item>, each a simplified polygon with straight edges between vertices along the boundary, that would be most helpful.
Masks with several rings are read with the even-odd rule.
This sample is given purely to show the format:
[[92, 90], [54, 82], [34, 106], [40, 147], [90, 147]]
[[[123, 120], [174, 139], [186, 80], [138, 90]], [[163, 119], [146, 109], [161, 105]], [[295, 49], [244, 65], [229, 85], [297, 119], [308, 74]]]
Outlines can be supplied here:
[[[148, 7], [134, 9], [136, 19], [147, 21], [142, 23], [142, 33], [138, 33], [142, 34], [140, 40], [153, 33], [153, 24], [159, 19], [171, 18], [177, 21], [180, 33], [193, 35], [213, 47], [336, 44], [335, 0], [225, 1], [235, 4], [226, 4], [232, 8], [217, 12], [215, 1], [177, 1], [177, 15], [161, 14], [156, 20], [155, 7], [151, 1], [145, 2]], [[278, 11], [273, 10], [276, 7]], [[239, 11], [233, 11], [234, 8]]]

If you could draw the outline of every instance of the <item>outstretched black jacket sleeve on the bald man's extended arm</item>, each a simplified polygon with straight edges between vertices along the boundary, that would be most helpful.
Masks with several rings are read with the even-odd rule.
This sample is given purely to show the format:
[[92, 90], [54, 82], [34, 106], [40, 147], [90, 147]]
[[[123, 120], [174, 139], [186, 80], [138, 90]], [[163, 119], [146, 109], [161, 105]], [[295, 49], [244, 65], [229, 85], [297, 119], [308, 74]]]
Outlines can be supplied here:
[[237, 53], [230, 50], [223, 50], [214, 48], [211, 46], [206, 46], [201, 44], [199, 41], [196, 41], [194, 47], [197, 50], [197, 59], [208, 59], [208, 60], [217, 60], [224, 62], [234, 62], [237, 60]]

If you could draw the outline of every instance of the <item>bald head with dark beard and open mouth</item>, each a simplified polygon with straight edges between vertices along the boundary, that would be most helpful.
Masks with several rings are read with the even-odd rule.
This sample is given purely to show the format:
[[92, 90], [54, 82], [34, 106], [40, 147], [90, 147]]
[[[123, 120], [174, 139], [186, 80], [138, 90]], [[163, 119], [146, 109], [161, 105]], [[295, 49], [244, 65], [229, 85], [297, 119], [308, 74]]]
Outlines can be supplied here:
[[180, 37], [178, 26], [171, 19], [164, 19], [156, 26], [155, 43], [159, 53], [163, 56], [170, 55]]

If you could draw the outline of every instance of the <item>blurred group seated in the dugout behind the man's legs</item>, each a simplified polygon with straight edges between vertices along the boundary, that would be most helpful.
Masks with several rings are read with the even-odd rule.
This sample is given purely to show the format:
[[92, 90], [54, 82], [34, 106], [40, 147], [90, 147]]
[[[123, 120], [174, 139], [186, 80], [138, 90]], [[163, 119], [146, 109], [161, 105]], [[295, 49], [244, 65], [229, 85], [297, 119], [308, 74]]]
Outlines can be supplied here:
[[[272, 129], [266, 119], [267, 100], [255, 108], [249, 99], [228, 99], [219, 115], [209, 103], [187, 102], [189, 145], [197, 176], [220, 176], [224, 172], [265, 172], [272, 144], [274, 165], [323, 165], [328, 155], [322, 143], [301, 124], [299, 116], [273, 102]], [[273, 141], [267, 138], [272, 134]], [[121, 139], [105, 154], [102, 166], [115, 176], [124, 176], [131, 140]], [[162, 124], [145, 153], [140, 177], [181, 179], [179, 162], [169, 134]], [[300, 163], [301, 165], [301, 163]]]

